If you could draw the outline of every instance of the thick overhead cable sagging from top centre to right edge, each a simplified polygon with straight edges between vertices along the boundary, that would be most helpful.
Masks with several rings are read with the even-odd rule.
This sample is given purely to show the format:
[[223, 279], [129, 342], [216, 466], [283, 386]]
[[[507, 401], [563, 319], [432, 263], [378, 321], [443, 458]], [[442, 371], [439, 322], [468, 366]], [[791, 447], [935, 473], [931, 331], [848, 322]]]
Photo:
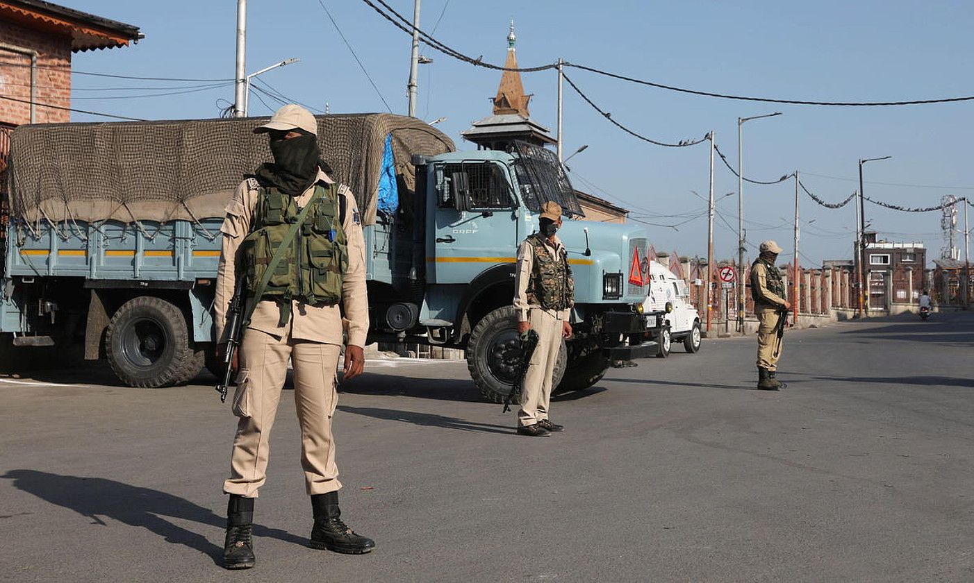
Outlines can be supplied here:
[[[320, 0], [318, 0], [318, 1], [320, 1]], [[460, 53], [459, 51], [457, 51], [455, 49], [452, 49], [450, 47], [447, 47], [446, 45], [444, 45], [440, 41], [438, 41], [435, 38], [433, 38], [431, 35], [429, 35], [426, 32], [424, 32], [422, 29], [413, 26], [413, 24], [412, 24], [411, 21], [409, 21], [407, 18], [403, 17], [399, 13], [395, 12], [395, 10], [393, 9], [393, 7], [391, 7], [389, 4], [387, 4], [384, 0], [376, 0], [375, 2], [373, 2], [372, 0], [362, 0], [362, 2], [364, 2], [365, 4], [367, 4], [368, 6], [370, 6], [374, 11], [376, 11], [377, 13], [379, 13], [379, 15], [382, 16], [383, 18], [386, 18], [387, 20], [389, 20], [390, 22], [392, 22], [393, 25], [396, 28], [398, 28], [399, 30], [401, 30], [401, 31], [403, 31], [403, 32], [405, 32], [406, 34], [409, 34], [409, 35], [412, 35], [413, 34], [413, 31], [415, 30], [420, 35], [420, 37], [423, 39], [423, 42], [426, 43], [427, 45], [429, 45], [430, 47], [432, 47], [433, 49], [435, 49], [436, 51], [439, 51], [440, 53], [443, 53], [444, 55], [452, 56], [452, 57], [454, 57], [454, 58], [456, 58], [458, 60], [462, 60], [462, 61], [468, 62], [469, 64], [474, 65], [474, 66], [486, 67], [486, 68], [489, 68], [489, 69], [497, 69], [497, 70], [501, 70], [501, 71], [517, 71], [517, 72], [520, 72], [520, 73], [534, 73], [534, 72], [538, 72], [538, 71], [545, 71], [545, 70], [548, 70], [548, 69], [554, 69], [554, 68], [557, 68], [559, 66], [559, 63], [554, 62], [554, 63], [545, 64], [545, 65], [539, 65], [539, 66], [535, 66], [535, 67], [507, 68], [507, 67], [504, 67], [504, 66], [501, 66], [501, 65], [496, 65], [496, 64], [489, 63], [489, 62], [485, 62], [483, 60], [483, 55], [480, 55], [480, 56], [478, 56], [476, 58], [473, 58], [472, 56], [464, 55], [463, 53]], [[381, 4], [383, 7], [385, 7], [386, 10], [384, 11], [382, 8], [380, 8], [379, 6], [377, 6], [376, 3]], [[388, 11], [388, 13], [386, 11]], [[398, 19], [398, 21], [396, 21], [396, 18]], [[589, 71], [589, 72], [595, 73], [597, 75], [604, 75], [606, 77], [611, 77], [613, 79], [618, 79], [620, 81], [627, 81], [629, 83], [636, 83], [636, 84], [639, 84], [639, 85], [645, 85], [645, 86], [648, 86], [648, 87], [654, 87], [656, 89], [661, 89], [661, 90], [666, 90], [666, 91], [678, 91], [678, 92], [689, 93], [689, 94], [693, 94], [693, 95], [701, 95], [701, 96], [704, 96], [704, 97], [717, 97], [717, 98], [720, 98], [720, 99], [735, 99], [735, 100], [738, 100], [738, 101], [762, 101], [762, 102], [766, 102], [766, 103], [785, 103], [785, 104], [790, 104], [790, 105], [819, 105], [819, 106], [840, 106], [840, 107], [878, 107], [878, 106], [899, 106], [899, 105], [926, 105], [926, 104], [931, 104], [931, 103], [950, 103], [950, 102], [955, 102], [955, 101], [974, 101], [974, 95], [967, 95], [967, 96], [961, 96], [961, 97], [943, 97], [943, 98], [936, 98], [936, 99], [916, 99], [916, 100], [898, 100], [898, 101], [894, 101], [894, 100], [889, 100], [889, 101], [813, 101], [813, 100], [808, 100], [808, 99], [778, 99], [778, 98], [773, 98], [773, 97], [753, 97], [753, 96], [746, 96], [746, 95], [733, 95], [731, 93], [722, 93], [722, 92], [717, 92], [717, 91], [698, 91], [698, 90], [691, 90], [691, 89], [686, 89], [686, 88], [674, 87], [674, 86], [670, 86], [670, 85], [663, 85], [661, 83], [656, 83], [656, 82], [653, 82], [653, 81], [646, 81], [644, 79], [637, 79], [635, 77], [628, 77], [626, 75], [619, 75], [618, 73], [612, 73], [610, 71], [605, 71], [605, 70], [598, 69], [598, 68], [595, 68], [595, 67], [589, 67], [589, 66], [586, 66], [586, 65], [572, 63], [572, 62], [562, 61], [560, 64], [563, 67], [575, 67], [577, 69], [581, 69], [581, 70], [584, 70], [584, 71]]]

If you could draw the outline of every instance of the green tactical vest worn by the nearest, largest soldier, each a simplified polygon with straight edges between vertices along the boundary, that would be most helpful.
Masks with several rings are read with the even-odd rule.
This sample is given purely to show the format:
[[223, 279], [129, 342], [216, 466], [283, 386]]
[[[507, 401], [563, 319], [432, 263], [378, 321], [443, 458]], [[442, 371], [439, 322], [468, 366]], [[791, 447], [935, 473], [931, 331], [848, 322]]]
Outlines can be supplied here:
[[[308, 211], [304, 223], [284, 251], [275, 273], [260, 294], [261, 300], [281, 304], [281, 325], [287, 323], [290, 300], [311, 306], [333, 306], [342, 298], [342, 277], [349, 268], [348, 240], [342, 226], [340, 202], [334, 184], [316, 185], [321, 197]], [[293, 197], [276, 188], [262, 188], [254, 207], [250, 233], [241, 249], [246, 266], [246, 287], [250, 297], [271, 263], [281, 240], [301, 209]]]

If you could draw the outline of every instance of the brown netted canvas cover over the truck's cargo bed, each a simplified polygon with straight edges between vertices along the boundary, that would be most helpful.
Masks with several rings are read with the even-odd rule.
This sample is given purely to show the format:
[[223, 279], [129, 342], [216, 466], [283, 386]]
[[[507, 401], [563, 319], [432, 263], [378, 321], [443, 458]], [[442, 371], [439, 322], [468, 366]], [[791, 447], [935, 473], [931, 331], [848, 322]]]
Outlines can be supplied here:
[[[222, 217], [244, 174], [271, 162], [267, 118], [22, 126], [11, 143], [11, 211], [27, 221], [202, 220]], [[334, 177], [375, 220], [386, 136], [395, 173], [414, 187], [412, 154], [454, 149], [443, 132], [392, 114], [318, 116]]]

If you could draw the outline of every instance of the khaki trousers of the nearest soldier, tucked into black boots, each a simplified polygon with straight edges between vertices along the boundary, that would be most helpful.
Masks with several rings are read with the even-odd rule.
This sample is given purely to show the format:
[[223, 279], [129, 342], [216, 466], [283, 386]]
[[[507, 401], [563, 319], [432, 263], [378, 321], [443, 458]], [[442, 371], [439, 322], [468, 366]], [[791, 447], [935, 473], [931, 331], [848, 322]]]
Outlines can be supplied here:
[[294, 401], [301, 424], [301, 466], [309, 494], [335, 492], [342, 487], [335, 465], [331, 416], [340, 347], [292, 341], [248, 328], [241, 346], [241, 370], [234, 394], [237, 436], [230, 459], [230, 479], [223, 492], [257, 497], [267, 479], [271, 427], [278, 412], [287, 360], [294, 366]]

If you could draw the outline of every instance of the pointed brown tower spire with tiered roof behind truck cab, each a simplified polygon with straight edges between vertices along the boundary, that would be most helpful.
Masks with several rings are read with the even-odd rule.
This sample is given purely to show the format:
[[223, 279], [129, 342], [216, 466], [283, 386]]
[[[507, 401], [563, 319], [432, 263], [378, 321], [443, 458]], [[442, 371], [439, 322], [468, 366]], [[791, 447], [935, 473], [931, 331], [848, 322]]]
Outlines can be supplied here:
[[555, 143], [548, 129], [531, 119], [528, 112], [531, 95], [524, 92], [520, 72], [510, 70], [517, 68], [516, 43], [517, 35], [514, 34], [512, 18], [507, 32], [507, 58], [504, 63], [508, 70], [501, 75], [497, 95], [491, 98], [494, 102], [494, 115], [474, 122], [472, 128], [461, 132], [465, 139], [483, 149], [506, 150], [513, 140], [539, 145]]

